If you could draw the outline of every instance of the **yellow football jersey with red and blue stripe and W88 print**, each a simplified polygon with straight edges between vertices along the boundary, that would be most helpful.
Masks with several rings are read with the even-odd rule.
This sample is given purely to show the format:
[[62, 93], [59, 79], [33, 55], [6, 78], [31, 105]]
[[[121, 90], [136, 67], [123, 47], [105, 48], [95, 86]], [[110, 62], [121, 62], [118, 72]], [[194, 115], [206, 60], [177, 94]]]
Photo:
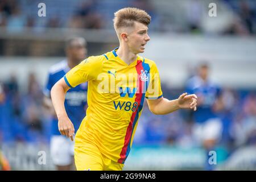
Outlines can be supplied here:
[[154, 61], [137, 56], [137, 60], [127, 65], [116, 50], [88, 57], [64, 79], [70, 87], [88, 81], [88, 109], [76, 133], [75, 145], [96, 144], [102, 155], [124, 163], [144, 98], [160, 98], [162, 90]]

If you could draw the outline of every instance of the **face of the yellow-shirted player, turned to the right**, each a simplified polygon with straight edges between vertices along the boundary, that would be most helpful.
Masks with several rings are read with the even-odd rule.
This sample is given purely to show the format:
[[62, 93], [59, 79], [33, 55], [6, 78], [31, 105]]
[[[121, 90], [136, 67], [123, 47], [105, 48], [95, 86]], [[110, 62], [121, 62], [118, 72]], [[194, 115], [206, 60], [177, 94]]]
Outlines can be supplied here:
[[127, 44], [130, 50], [137, 54], [144, 52], [146, 43], [150, 40], [148, 36], [148, 27], [143, 23], [134, 22], [134, 27], [127, 35]]

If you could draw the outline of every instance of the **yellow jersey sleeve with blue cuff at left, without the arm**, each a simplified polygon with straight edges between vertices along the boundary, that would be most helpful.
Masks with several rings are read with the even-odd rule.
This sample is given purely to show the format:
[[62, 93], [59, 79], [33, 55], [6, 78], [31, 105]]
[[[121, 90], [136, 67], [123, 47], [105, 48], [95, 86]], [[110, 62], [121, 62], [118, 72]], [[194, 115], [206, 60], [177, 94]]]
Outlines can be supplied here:
[[100, 57], [88, 57], [88, 59], [83, 60], [79, 65], [66, 73], [64, 80], [71, 88], [86, 81], [96, 80], [101, 73], [101, 64]]

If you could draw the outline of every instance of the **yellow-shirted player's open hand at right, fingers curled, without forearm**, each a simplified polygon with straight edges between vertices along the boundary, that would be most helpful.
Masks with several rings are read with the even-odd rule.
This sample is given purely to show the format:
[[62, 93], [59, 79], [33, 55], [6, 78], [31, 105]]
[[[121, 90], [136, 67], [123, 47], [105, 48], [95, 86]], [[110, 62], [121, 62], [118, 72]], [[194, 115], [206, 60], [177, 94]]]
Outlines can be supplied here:
[[196, 94], [188, 95], [188, 93], [183, 93], [178, 98], [178, 105], [182, 109], [193, 109], [196, 111], [197, 96]]

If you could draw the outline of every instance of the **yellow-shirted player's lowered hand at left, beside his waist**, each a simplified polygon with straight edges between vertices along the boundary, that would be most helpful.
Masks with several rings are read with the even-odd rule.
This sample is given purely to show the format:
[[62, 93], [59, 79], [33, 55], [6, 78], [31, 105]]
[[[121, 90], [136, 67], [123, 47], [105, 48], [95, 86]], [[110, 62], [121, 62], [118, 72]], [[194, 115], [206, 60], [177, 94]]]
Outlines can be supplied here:
[[73, 123], [68, 117], [59, 118], [58, 127], [61, 135], [66, 135], [73, 141], [73, 135], [75, 135], [75, 129]]

